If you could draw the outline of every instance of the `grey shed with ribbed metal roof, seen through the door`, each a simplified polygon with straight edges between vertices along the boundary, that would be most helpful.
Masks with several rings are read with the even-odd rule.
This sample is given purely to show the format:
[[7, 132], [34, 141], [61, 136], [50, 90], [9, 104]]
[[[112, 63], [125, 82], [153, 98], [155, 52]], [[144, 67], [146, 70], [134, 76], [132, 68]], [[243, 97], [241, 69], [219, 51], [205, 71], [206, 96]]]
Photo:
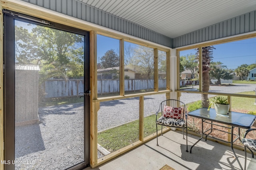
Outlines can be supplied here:
[[15, 65], [15, 125], [39, 123], [37, 65]]

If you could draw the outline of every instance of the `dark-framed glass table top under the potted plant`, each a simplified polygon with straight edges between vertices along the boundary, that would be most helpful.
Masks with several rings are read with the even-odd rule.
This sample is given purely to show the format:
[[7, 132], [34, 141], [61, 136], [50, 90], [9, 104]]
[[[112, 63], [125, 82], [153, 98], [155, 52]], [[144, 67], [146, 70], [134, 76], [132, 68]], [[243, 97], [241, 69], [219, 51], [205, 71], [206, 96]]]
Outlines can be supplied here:
[[208, 111], [207, 109], [208, 108], [201, 108], [191, 111], [188, 113], [188, 116], [223, 123], [234, 127], [240, 127], [243, 129], [250, 129], [256, 119], [256, 115], [250, 115], [234, 111], [228, 112], [228, 115], [219, 115], [216, 114], [215, 109], [210, 109], [210, 111]]

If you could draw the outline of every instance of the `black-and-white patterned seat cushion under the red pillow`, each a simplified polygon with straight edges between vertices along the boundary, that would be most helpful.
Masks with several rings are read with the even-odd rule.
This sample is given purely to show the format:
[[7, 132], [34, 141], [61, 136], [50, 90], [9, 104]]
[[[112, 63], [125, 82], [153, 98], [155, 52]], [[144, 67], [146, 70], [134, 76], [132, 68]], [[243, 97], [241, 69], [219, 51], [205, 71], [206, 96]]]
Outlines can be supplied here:
[[172, 127], [185, 127], [186, 123], [184, 119], [174, 119], [172, 117], [161, 116], [156, 120], [156, 124]]

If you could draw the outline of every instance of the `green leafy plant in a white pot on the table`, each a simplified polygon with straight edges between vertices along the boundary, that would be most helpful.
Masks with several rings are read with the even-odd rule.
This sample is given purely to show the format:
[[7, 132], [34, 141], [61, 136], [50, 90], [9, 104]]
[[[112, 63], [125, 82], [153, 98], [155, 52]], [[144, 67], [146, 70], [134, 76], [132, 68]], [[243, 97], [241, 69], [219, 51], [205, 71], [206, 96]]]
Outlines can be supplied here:
[[221, 96], [217, 96], [209, 100], [209, 107], [208, 110], [210, 110], [211, 106], [214, 106], [216, 113], [226, 115], [229, 111], [229, 104], [228, 104], [228, 98], [224, 98]]

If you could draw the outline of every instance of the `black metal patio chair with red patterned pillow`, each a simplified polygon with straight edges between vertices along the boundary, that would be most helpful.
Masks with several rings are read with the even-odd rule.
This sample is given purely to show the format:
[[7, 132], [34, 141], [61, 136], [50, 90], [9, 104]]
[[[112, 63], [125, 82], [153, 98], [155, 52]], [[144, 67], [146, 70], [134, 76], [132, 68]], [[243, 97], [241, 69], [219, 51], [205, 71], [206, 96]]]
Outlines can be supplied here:
[[[158, 113], [161, 113], [161, 117], [158, 118]], [[163, 132], [163, 126], [182, 128], [183, 139], [184, 129], [186, 129], [186, 145], [188, 152], [188, 129], [187, 129], [187, 109], [186, 105], [179, 100], [164, 100], [161, 102], [158, 111], [156, 111], [156, 145], [158, 146], [158, 130], [157, 125], [162, 125], [161, 135]], [[184, 119], [185, 118], [185, 119]]]

